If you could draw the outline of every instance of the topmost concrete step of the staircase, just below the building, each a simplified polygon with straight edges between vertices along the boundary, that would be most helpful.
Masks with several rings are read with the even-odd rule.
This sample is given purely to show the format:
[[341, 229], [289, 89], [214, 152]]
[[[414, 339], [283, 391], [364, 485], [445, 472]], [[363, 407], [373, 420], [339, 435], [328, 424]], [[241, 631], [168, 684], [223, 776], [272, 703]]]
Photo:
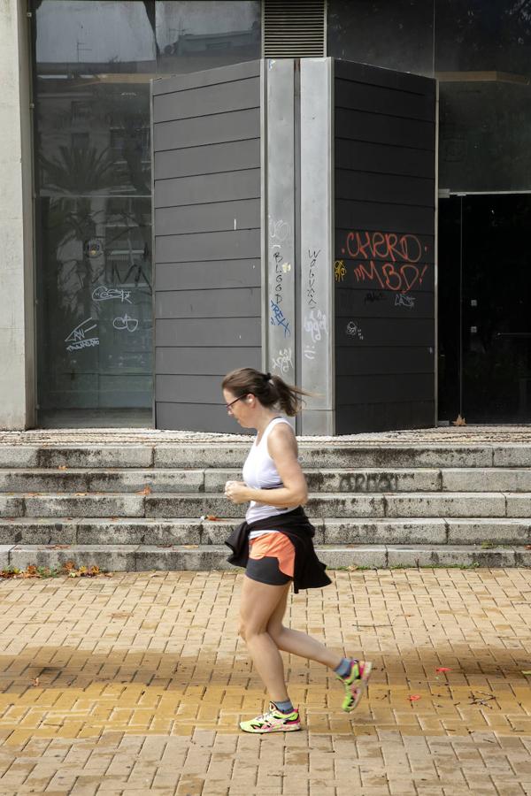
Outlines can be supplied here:
[[[164, 442], [142, 445], [123, 442], [119, 445], [65, 445], [61, 442], [0, 445], [3, 468], [190, 468], [241, 467], [249, 450], [249, 441], [178, 444]], [[462, 468], [462, 467], [531, 467], [531, 446], [527, 444], [426, 444], [375, 440], [342, 442], [301, 442], [299, 455], [303, 466], [312, 468]]]

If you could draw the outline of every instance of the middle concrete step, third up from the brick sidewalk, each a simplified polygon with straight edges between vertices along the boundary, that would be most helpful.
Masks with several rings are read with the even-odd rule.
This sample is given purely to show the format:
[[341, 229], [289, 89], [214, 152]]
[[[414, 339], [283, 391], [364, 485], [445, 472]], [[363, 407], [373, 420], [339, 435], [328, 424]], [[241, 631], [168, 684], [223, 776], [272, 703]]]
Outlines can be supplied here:
[[[313, 493], [312, 517], [531, 517], [531, 493]], [[0, 517], [243, 517], [246, 505], [208, 493], [0, 494]]]

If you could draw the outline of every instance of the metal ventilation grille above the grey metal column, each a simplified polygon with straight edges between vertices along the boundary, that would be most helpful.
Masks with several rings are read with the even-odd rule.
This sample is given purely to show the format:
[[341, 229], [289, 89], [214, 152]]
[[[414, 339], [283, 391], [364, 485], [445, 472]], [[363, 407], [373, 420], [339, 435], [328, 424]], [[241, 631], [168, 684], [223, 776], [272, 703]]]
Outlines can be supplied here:
[[323, 57], [326, 0], [263, 0], [266, 58]]

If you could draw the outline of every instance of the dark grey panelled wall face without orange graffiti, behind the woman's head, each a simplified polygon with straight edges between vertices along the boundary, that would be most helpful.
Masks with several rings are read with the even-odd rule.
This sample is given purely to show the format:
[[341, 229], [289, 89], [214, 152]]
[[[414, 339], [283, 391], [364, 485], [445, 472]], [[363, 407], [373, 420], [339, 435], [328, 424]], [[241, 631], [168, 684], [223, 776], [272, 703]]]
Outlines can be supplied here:
[[153, 83], [157, 427], [240, 432], [220, 381], [260, 367], [260, 63]]

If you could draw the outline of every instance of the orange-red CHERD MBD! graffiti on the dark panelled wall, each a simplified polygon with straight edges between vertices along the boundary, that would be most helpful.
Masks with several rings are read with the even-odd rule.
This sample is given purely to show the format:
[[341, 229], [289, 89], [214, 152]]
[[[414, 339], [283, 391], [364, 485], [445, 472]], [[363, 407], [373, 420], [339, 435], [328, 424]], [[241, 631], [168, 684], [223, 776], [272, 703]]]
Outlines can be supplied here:
[[421, 257], [427, 255], [427, 246], [412, 234], [350, 232], [342, 254], [357, 261], [357, 282], [373, 282], [400, 293], [421, 285], [428, 267], [419, 264]]

